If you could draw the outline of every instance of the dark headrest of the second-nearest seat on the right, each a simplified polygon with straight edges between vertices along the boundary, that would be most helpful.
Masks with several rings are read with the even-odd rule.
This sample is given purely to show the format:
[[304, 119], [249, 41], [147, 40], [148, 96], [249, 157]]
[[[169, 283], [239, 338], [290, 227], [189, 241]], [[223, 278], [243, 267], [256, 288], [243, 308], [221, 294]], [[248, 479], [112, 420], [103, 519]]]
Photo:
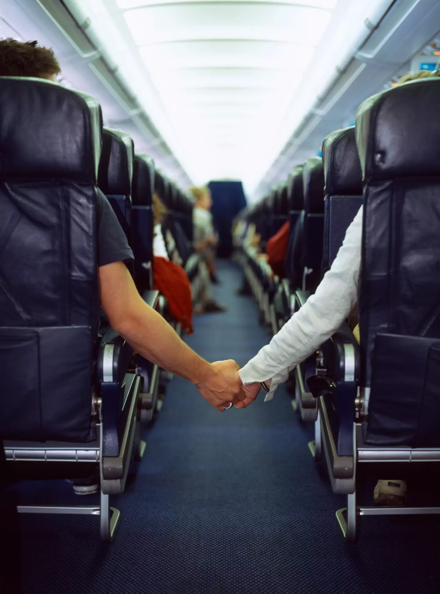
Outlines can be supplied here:
[[322, 143], [324, 194], [362, 196], [362, 171], [354, 126], [329, 134]]

